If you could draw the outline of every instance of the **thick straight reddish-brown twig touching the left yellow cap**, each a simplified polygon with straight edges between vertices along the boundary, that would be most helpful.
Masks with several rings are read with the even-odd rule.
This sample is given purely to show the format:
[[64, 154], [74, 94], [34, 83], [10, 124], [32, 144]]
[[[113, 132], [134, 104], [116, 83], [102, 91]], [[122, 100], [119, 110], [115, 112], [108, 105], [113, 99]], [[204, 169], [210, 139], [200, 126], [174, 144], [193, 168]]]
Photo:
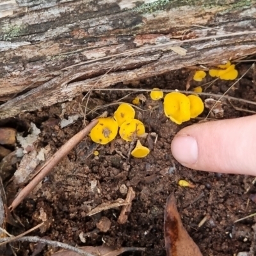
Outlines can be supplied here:
[[15, 209], [26, 196], [37, 186], [37, 184], [44, 179], [49, 172], [51, 172], [52, 168], [56, 166], [63, 157], [67, 156], [67, 154], [74, 148], [76, 145], [83, 140], [84, 136], [86, 136], [92, 128], [98, 123], [97, 119], [93, 120], [88, 124], [82, 131], [78, 132], [74, 135], [70, 140], [68, 140], [36, 173], [35, 177], [29, 184], [23, 188], [17, 197], [13, 200], [9, 209], [12, 211]]

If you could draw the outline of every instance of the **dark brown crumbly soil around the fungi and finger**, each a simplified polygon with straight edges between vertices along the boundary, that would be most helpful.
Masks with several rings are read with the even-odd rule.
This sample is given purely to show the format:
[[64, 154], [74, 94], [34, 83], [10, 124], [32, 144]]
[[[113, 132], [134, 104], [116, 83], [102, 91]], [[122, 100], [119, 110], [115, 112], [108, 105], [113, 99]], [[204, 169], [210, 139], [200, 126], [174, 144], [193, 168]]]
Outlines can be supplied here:
[[[239, 77], [251, 66], [252, 63], [237, 65]], [[113, 88], [158, 87], [164, 90], [185, 90], [188, 77], [188, 70], [177, 70], [144, 81], [115, 84]], [[255, 102], [255, 77], [256, 70], [251, 68], [228, 91], [227, 95]], [[207, 76], [204, 83], [212, 80], [212, 77]], [[234, 82], [218, 80], [204, 92], [222, 95]], [[204, 83], [191, 81], [191, 88]], [[234, 221], [256, 212], [256, 204], [249, 199], [250, 195], [256, 193], [255, 186], [252, 185], [253, 177], [196, 172], [181, 166], [171, 154], [170, 144], [173, 136], [182, 127], [200, 122], [207, 116], [209, 109], [205, 108], [200, 118], [177, 125], [164, 115], [161, 100], [151, 100], [148, 92], [125, 90], [92, 92], [88, 108], [93, 109], [96, 106], [113, 103], [122, 97], [124, 97], [122, 102], [131, 103], [132, 99], [141, 93], [146, 100], [140, 103], [138, 106], [140, 109], [136, 109], [136, 117], [145, 124], [146, 132], [149, 134], [148, 138], [142, 141], [150, 148], [150, 154], [141, 159], [134, 157], [128, 159], [130, 143], [120, 139], [119, 136], [113, 143], [107, 145], [95, 145], [89, 136], [86, 136], [52, 170], [42, 184], [15, 209], [15, 214], [24, 227], [8, 225], [9, 232], [13, 235], [20, 234], [41, 223], [44, 216], [47, 225], [35, 230], [29, 236], [45, 237], [73, 246], [106, 244], [115, 248], [125, 246], [146, 248], [145, 252], [129, 252], [123, 255], [166, 255], [163, 230], [164, 207], [168, 195], [174, 191], [184, 227], [198, 244], [203, 255], [230, 256], [250, 250], [253, 243], [252, 225], [255, 223], [255, 217], [238, 223]], [[72, 102], [67, 102], [65, 113], [63, 113], [64, 105], [56, 104], [50, 108], [38, 109], [33, 113], [23, 113], [15, 119], [5, 120], [1, 125], [13, 127], [19, 132], [24, 132], [26, 136], [29, 134], [30, 123], [33, 122], [41, 131], [35, 148], [40, 150], [40, 148], [49, 147], [49, 157], [82, 129], [83, 117], [79, 117], [76, 122], [63, 129], [60, 128], [61, 118], [83, 116], [84, 107], [80, 105], [82, 98], [83, 95]], [[210, 97], [202, 95], [201, 98], [205, 100]], [[85, 104], [86, 101], [83, 102], [83, 105]], [[90, 113], [87, 118], [92, 120], [104, 111], [108, 111], [108, 115], [113, 115], [117, 106], [115, 104], [98, 109], [97, 113]], [[220, 108], [223, 109], [223, 117], [219, 113], [220, 116], [211, 115], [209, 119], [252, 115], [234, 107], [256, 111], [255, 105], [222, 99]], [[89, 109], [87, 113], [90, 112]], [[96, 149], [99, 151], [99, 156], [93, 154]], [[13, 169], [15, 168], [13, 166]], [[11, 174], [4, 180], [8, 202], [12, 202], [18, 189], [13, 188], [12, 182], [8, 183], [10, 177], [12, 177]], [[180, 179], [195, 184], [195, 188], [178, 186]], [[245, 193], [249, 186], [252, 188]], [[119, 224], [117, 221], [122, 207], [86, 216], [88, 212], [104, 202], [113, 203], [118, 198], [125, 199], [127, 189], [130, 187], [134, 189], [136, 196], [132, 201], [131, 212], [126, 223]], [[207, 220], [204, 225], [198, 227], [205, 216]], [[102, 220], [110, 221], [110, 227], [103, 230], [106, 232], [100, 231], [102, 228], [99, 229], [102, 217], [108, 218]], [[17, 243], [13, 250], [17, 255], [32, 255], [35, 248], [33, 243]], [[38, 255], [50, 255], [58, 250], [45, 246]], [[9, 247], [6, 255], [12, 255]]]

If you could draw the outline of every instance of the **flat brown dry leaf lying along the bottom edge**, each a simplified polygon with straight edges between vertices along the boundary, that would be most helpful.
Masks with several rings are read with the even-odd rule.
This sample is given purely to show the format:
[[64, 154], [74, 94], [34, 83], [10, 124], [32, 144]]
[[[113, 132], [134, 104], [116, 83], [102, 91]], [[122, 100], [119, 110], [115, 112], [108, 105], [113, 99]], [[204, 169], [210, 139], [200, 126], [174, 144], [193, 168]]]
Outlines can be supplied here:
[[[120, 249], [115, 250], [111, 246], [84, 246], [79, 247], [79, 249], [84, 250], [84, 252], [91, 253], [92, 255], [97, 256], [118, 256], [124, 252], [134, 252], [134, 251], [145, 251], [145, 248], [138, 248], [138, 247], [123, 247]], [[56, 252], [53, 256], [79, 256], [78, 253], [72, 252], [70, 250], [65, 250], [61, 252]]]

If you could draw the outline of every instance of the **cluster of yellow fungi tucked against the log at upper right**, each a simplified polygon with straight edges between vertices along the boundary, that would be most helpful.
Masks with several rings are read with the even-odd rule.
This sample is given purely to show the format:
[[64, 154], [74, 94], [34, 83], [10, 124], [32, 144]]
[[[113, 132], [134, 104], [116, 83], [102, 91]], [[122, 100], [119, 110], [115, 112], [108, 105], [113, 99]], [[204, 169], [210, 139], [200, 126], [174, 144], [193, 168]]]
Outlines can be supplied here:
[[[222, 80], [234, 80], [238, 76], [238, 72], [235, 69], [235, 65], [231, 65], [230, 61], [227, 61], [225, 65], [218, 65], [216, 69], [210, 69], [209, 75], [211, 77], [220, 77]], [[205, 76], [204, 70], [197, 70], [193, 79], [200, 82]]]

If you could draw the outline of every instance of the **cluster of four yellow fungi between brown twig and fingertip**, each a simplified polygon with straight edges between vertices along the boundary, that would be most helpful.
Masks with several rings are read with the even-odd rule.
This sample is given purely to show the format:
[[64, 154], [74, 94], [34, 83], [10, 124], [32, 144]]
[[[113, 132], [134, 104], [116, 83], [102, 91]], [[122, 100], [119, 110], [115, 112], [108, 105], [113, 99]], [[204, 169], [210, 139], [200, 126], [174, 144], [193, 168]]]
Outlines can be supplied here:
[[[105, 145], [114, 140], [119, 128], [119, 135], [125, 141], [133, 141], [145, 134], [143, 123], [134, 118], [135, 111], [131, 105], [122, 103], [116, 109], [114, 116], [99, 118], [99, 123], [93, 127], [90, 137], [95, 143]], [[134, 157], [145, 157], [150, 150], [137, 141], [136, 147], [132, 150], [131, 155]]]

